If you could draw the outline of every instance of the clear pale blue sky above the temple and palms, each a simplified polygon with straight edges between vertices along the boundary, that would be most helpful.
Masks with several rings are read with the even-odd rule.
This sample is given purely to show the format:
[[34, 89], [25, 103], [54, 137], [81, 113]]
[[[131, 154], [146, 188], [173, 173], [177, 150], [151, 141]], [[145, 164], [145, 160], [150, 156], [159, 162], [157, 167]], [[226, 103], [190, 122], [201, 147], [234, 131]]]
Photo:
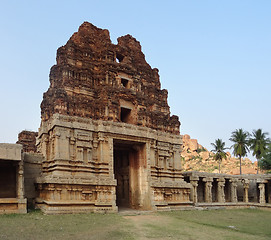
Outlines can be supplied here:
[[181, 134], [271, 133], [271, 1], [1, 1], [0, 142], [37, 131], [56, 50], [84, 21], [133, 35], [160, 70]]

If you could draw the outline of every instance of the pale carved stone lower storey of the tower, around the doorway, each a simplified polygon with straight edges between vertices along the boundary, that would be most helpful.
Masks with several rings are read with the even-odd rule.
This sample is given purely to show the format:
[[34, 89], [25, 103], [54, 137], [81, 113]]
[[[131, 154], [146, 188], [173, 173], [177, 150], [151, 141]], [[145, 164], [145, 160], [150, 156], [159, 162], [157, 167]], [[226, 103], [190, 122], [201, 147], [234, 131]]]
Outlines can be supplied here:
[[[180, 136], [127, 123], [54, 114], [42, 122], [39, 206], [47, 213], [116, 211], [114, 151], [129, 150], [129, 207], [191, 204], [180, 165]], [[132, 154], [133, 153], [133, 154]], [[62, 205], [65, 207], [58, 207]], [[71, 206], [72, 205], [72, 206]]]

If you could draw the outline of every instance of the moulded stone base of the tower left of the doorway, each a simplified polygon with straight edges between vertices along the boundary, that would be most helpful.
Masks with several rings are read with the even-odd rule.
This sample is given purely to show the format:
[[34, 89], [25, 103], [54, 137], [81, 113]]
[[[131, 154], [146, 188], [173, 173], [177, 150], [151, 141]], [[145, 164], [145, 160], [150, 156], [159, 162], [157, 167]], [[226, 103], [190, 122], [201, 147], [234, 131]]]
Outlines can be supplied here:
[[111, 185], [98, 185], [89, 179], [58, 179], [58, 182], [43, 179], [37, 188], [39, 197], [36, 198], [36, 206], [45, 214], [118, 211], [114, 182]]

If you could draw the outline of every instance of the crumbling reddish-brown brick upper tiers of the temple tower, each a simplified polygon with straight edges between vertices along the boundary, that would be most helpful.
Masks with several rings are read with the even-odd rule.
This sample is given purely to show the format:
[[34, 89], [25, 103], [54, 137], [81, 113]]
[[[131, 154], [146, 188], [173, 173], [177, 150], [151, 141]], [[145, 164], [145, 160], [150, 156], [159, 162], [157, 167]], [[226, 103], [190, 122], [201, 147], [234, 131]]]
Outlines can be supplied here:
[[56, 60], [41, 103], [43, 121], [60, 113], [179, 134], [180, 122], [170, 116], [158, 69], [146, 62], [131, 35], [119, 37], [115, 45], [108, 30], [84, 22], [58, 49]]

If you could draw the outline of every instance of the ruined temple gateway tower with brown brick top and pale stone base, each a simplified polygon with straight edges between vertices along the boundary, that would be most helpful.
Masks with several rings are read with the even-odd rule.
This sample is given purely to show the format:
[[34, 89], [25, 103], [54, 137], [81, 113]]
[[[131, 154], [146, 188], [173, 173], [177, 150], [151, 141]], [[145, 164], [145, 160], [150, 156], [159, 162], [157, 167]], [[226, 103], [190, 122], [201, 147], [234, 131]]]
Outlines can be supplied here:
[[180, 122], [167, 90], [130, 35], [84, 22], [57, 51], [41, 103], [44, 155], [38, 205], [46, 213], [177, 209], [190, 204]]

